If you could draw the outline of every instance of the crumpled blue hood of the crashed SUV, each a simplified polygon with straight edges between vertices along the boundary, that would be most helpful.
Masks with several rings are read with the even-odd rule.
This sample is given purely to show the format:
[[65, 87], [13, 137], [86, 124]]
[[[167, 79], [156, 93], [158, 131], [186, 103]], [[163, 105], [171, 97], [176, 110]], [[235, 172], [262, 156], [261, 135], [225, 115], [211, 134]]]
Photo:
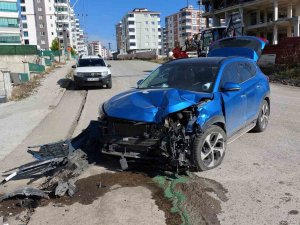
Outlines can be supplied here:
[[192, 105], [213, 94], [180, 89], [134, 89], [114, 96], [107, 101], [104, 112], [109, 117], [159, 123], [168, 114]]

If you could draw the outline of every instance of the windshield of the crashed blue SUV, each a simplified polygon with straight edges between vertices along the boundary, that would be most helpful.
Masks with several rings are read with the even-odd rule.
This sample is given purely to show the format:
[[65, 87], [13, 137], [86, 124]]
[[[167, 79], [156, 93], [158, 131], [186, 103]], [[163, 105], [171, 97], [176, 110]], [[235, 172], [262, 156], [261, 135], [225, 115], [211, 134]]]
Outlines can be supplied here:
[[154, 70], [138, 88], [178, 88], [211, 93], [218, 70], [218, 66], [199, 63], [165, 64]]

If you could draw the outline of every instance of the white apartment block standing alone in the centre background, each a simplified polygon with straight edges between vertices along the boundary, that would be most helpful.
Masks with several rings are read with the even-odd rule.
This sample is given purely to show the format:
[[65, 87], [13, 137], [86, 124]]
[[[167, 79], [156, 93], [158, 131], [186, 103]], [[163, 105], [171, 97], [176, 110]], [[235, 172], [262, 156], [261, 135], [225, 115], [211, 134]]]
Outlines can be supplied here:
[[146, 8], [128, 12], [122, 20], [122, 49], [127, 53], [160, 50], [160, 13]]

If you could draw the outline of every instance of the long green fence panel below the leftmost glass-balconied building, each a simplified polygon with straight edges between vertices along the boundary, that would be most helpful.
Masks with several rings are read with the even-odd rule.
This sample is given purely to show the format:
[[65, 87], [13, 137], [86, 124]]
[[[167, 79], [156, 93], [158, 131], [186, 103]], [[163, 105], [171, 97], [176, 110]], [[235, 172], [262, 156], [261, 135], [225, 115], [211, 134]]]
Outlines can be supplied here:
[[36, 45], [1, 45], [0, 55], [37, 55]]

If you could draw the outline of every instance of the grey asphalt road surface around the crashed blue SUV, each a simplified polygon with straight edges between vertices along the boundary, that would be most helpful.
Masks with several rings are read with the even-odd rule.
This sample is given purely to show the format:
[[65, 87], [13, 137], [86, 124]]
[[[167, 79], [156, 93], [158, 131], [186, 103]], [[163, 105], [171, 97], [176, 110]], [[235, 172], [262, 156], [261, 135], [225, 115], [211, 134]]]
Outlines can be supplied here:
[[[108, 63], [112, 65], [112, 89], [66, 91], [57, 109], [36, 128], [36, 134], [31, 135], [32, 140], [26, 140], [21, 147], [24, 149], [37, 140], [40, 143], [52, 141], [50, 134], [56, 139], [63, 139], [70, 131], [74, 131], [73, 136], [76, 136], [91, 120], [97, 119], [99, 105], [114, 94], [135, 87], [139, 79], [158, 66], [143, 61]], [[60, 117], [61, 114], [64, 116]], [[271, 120], [268, 129], [261, 134], [247, 133], [242, 136], [228, 146], [220, 167], [196, 174], [216, 181], [227, 190], [226, 198], [221, 200], [211, 193], [221, 202], [222, 212], [218, 219], [222, 225], [300, 224], [299, 116], [300, 89], [271, 85]], [[45, 127], [49, 129], [45, 130]], [[15, 165], [15, 153], [1, 161], [0, 169]], [[21, 150], [19, 153], [18, 160], [26, 158]], [[103, 172], [113, 171], [97, 166], [90, 168], [83, 177]], [[88, 213], [91, 214], [87, 218]], [[95, 219], [99, 215], [101, 219]], [[164, 224], [165, 216], [146, 188], [119, 188], [90, 206], [76, 203], [64, 210], [53, 206], [39, 208], [29, 224], [58, 225], [72, 224], [74, 221], [77, 224], [105, 225]]]

